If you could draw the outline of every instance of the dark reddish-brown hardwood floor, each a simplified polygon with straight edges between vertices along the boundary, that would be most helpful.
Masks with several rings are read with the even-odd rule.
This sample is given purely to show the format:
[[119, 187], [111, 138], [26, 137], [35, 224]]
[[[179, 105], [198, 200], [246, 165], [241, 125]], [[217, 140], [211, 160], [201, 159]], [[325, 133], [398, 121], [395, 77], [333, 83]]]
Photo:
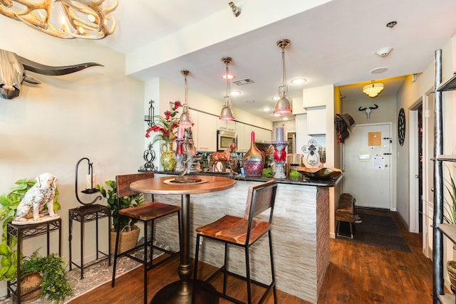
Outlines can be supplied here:
[[[395, 212], [372, 211], [388, 214], [398, 224], [412, 253], [383, 249], [359, 243], [331, 239], [331, 263], [326, 272], [318, 304], [335, 303], [391, 303], [415, 304], [432, 303], [432, 262], [425, 258], [421, 249], [421, 234], [411, 234]], [[176, 273], [179, 259], [152, 269], [148, 274], [148, 302], [163, 286], [178, 280]], [[212, 271], [212, 266], [199, 263], [202, 278]], [[220, 285], [215, 281], [214, 286]], [[229, 293], [245, 298], [244, 283], [236, 279], [229, 281]], [[254, 295], [258, 294], [258, 290]], [[254, 300], [258, 300], [254, 298]], [[278, 292], [280, 304], [309, 303], [287, 293]], [[137, 268], [115, 280], [115, 287], [110, 283], [86, 293], [71, 304], [85, 303], [143, 303], [142, 268]], [[229, 303], [220, 300], [220, 303]], [[265, 303], [274, 303], [269, 294]]]

